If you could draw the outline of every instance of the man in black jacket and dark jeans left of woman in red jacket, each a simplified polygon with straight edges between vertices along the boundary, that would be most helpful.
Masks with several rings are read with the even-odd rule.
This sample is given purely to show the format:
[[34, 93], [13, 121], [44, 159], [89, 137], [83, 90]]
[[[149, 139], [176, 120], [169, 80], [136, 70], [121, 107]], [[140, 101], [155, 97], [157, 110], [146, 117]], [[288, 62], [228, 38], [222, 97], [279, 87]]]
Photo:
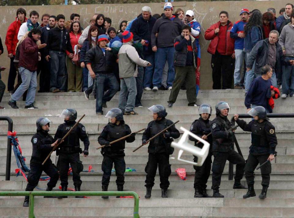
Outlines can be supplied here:
[[48, 34], [48, 50], [45, 58], [48, 62], [49, 58], [51, 58], [50, 91], [66, 92], [65, 51], [70, 52], [70, 58], [74, 57], [74, 51], [70, 44], [70, 35], [67, 29], [63, 27], [65, 21], [64, 15], [58, 14], [56, 20], [57, 27], [52, 28]]

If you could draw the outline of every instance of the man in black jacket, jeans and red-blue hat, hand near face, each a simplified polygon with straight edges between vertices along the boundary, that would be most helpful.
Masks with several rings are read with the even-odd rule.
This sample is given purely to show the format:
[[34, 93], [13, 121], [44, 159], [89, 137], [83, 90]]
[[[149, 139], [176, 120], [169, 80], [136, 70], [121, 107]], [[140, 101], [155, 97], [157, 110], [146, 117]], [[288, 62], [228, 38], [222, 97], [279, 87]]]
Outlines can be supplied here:
[[[87, 51], [84, 62], [96, 85], [96, 115], [103, 115], [102, 104], [110, 101], [119, 90], [119, 83], [113, 73], [112, 66], [116, 56], [107, 48], [108, 37], [103, 34], [98, 36], [98, 44]], [[104, 94], [104, 85], [109, 88]]]

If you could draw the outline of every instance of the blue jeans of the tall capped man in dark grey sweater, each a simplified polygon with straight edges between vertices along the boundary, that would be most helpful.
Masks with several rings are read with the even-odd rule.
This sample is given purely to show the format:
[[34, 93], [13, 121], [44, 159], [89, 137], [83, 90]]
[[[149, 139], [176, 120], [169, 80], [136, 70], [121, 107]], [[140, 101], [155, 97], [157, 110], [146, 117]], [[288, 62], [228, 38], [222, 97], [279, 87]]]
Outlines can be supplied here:
[[172, 82], [175, 79], [174, 53], [175, 53], [175, 48], [173, 46], [157, 48], [157, 51], [155, 52], [155, 69], [153, 74], [153, 87], [160, 88], [162, 71], [166, 61], [168, 61], [167, 88], [172, 86]]

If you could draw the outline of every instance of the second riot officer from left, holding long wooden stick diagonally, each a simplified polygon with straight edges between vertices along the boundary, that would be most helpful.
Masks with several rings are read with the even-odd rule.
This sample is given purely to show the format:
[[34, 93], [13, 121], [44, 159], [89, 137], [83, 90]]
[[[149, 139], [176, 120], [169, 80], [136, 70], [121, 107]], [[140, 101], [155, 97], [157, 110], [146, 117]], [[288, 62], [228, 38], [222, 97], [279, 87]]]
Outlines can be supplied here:
[[[58, 126], [55, 133], [55, 139], [62, 138], [66, 133], [74, 126], [77, 119], [77, 111], [69, 108], [62, 111], [59, 116], [64, 118], [64, 123]], [[80, 148], [80, 139], [84, 142], [84, 151]], [[60, 181], [62, 191], [67, 191], [67, 179], [69, 164], [73, 171], [74, 189], [76, 191], [81, 190], [81, 176], [80, 172], [83, 171], [83, 164], [80, 161], [80, 153], [84, 153], [84, 157], [89, 155], [89, 138], [86, 133], [85, 126], [79, 123], [65, 138], [65, 141], [58, 146], [57, 154], [59, 155], [57, 161], [57, 167], [60, 173]], [[64, 196], [67, 197], [67, 196]], [[82, 197], [82, 196], [76, 196]]]

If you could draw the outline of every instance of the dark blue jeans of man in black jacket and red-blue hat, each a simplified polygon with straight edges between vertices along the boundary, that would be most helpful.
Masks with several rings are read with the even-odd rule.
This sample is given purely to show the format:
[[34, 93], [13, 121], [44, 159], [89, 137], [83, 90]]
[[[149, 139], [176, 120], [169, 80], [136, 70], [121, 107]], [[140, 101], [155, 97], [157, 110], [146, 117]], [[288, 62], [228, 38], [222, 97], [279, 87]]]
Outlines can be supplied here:
[[[96, 74], [96, 113], [102, 112], [102, 103], [110, 101], [115, 93], [119, 90], [114, 73], [97, 73]], [[104, 86], [109, 87], [104, 94]]]

